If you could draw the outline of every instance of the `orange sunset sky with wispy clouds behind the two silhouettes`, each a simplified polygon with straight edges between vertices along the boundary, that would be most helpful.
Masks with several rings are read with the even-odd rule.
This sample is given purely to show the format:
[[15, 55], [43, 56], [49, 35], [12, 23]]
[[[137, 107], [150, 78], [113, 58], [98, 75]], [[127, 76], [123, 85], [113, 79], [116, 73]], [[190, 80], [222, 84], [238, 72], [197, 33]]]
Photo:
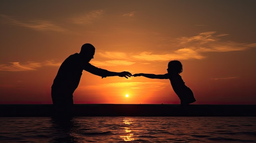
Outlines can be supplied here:
[[[180, 74], [193, 104], [256, 104], [255, 0], [1, 0], [0, 104], [52, 104], [61, 63], [90, 43], [109, 71]], [[126, 97], [126, 95], [129, 97]], [[74, 103], [179, 104], [168, 79], [83, 71]]]

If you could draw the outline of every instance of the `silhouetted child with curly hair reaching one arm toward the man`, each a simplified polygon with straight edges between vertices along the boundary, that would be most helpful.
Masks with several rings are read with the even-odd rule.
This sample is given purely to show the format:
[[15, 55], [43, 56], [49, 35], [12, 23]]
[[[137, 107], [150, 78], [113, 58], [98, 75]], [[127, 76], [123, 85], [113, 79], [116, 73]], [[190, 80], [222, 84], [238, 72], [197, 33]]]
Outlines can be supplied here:
[[173, 60], [168, 63], [167, 72], [164, 75], [146, 74], [146, 73], [136, 73], [132, 76], [138, 77], [143, 76], [150, 79], [169, 79], [171, 81], [171, 86], [174, 92], [180, 98], [181, 105], [188, 105], [189, 103], [195, 102], [195, 97], [192, 90], [187, 87], [180, 76], [182, 73], [182, 64], [180, 61]]

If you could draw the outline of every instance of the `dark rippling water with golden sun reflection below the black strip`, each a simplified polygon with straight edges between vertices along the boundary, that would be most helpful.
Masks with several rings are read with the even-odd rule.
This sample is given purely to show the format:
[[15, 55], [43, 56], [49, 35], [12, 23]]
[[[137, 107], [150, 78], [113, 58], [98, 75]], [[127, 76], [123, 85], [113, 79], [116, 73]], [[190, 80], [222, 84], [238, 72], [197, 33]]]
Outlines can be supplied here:
[[0, 143], [256, 143], [256, 117], [0, 117]]

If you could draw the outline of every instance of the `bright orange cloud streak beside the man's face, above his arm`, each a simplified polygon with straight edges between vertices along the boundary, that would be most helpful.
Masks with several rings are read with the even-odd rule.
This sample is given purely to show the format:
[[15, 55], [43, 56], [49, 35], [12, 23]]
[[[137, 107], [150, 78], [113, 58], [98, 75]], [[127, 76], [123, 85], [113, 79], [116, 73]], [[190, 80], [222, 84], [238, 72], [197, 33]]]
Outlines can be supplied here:
[[129, 66], [135, 64], [135, 62], [130, 62], [127, 60], [108, 60], [108, 61], [92, 61], [90, 62], [94, 66]]

